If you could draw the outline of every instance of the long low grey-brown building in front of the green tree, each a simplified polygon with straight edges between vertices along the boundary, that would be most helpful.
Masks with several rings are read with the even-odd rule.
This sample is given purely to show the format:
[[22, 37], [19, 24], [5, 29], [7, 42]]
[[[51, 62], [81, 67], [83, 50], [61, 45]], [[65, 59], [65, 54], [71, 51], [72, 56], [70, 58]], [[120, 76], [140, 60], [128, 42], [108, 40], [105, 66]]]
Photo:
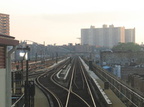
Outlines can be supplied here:
[[106, 65], [122, 65], [122, 66], [134, 66], [144, 65], [144, 52], [137, 51], [101, 51], [100, 52], [101, 64]]

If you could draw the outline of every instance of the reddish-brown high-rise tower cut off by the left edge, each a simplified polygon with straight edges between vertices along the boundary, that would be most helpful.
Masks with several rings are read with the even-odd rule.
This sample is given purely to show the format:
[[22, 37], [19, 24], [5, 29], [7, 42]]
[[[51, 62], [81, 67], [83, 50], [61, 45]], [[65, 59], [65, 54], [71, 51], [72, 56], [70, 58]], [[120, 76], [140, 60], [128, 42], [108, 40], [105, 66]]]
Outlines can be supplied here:
[[9, 29], [9, 15], [0, 13], [0, 33], [10, 35]]

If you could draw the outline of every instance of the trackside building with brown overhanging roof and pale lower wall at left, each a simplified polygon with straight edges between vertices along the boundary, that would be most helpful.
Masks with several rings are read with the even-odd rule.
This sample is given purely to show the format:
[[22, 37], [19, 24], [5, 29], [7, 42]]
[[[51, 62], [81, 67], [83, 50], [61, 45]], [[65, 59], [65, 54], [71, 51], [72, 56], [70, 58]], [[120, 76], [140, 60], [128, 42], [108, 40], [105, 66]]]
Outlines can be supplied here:
[[[18, 41], [8, 35], [0, 34], [0, 106], [11, 106], [11, 53]], [[11, 46], [11, 47], [9, 47]]]

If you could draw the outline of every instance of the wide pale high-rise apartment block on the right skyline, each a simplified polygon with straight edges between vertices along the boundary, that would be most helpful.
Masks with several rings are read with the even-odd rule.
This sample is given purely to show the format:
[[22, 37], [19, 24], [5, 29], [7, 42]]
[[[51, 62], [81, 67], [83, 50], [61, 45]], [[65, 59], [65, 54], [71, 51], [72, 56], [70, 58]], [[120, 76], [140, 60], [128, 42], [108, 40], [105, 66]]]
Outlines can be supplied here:
[[[129, 38], [130, 37], [130, 38]], [[114, 25], [103, 25], [103, 28], [81, 29], [81, 44], [88, 44], [97, 47], [109, 47], [117, 45], [119, 42], [135, 42], [135, 29], [125, 29], [125, 27], [114, 27]]]

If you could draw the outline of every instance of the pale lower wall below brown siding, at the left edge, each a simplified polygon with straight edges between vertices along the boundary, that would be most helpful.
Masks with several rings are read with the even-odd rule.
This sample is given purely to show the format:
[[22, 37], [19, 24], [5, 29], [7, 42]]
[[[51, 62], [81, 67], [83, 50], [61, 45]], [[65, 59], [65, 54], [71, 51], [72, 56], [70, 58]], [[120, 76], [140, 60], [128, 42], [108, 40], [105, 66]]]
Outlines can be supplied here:
[[0, 106], [6, 107], [6, 69], [0, 69]]

